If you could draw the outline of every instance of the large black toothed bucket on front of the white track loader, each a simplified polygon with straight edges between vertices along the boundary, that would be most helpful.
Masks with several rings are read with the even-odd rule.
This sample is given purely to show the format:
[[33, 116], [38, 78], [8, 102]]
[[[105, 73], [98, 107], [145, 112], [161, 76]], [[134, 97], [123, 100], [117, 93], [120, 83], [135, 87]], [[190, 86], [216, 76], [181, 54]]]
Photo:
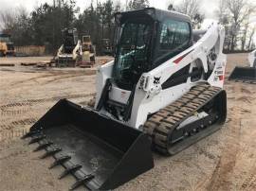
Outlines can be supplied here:
[[70, 188], [109, 190], [154, 167], [148, 135], [99, 113], [60, 100], [27, 133], [29, 143], [75, 176]]

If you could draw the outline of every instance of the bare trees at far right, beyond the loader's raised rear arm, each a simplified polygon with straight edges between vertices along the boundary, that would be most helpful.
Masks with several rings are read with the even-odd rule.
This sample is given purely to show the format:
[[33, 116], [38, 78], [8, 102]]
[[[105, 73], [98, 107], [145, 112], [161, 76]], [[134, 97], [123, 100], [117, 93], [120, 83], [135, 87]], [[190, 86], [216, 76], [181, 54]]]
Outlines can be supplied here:
[[219, 0], [215, 10], [219, 23], [225, 26], [225, 48], [234, 50], [251, 50], [255, 48], [253, 36], [256, 25], [249, 26], [251, 16], [256, 16], [256, 4], [250, 0]]

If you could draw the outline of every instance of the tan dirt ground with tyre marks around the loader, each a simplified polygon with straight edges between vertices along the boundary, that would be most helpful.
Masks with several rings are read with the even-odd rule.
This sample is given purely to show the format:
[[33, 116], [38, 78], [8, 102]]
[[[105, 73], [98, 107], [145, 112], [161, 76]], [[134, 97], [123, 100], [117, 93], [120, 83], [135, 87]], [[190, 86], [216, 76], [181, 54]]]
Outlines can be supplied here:
[[[30, 58], [32, 60], [32, 58]], [[0, 67], [0, 190], [67, 190], [71, 176], [20, 140], [60, 98], [86, 104], [95, 93], [95, 68]], [[4, 60], [0, 60], [4, 62]], [[226, 77], [247, 54], [228, 56]], [[228, 118], [223, 128], [174, 157], [154, 153], [155, 168], [117, 190], [256, 190], [256, 85], [226, 80]], [[82, 190], [82, 188], [78, 189]]]

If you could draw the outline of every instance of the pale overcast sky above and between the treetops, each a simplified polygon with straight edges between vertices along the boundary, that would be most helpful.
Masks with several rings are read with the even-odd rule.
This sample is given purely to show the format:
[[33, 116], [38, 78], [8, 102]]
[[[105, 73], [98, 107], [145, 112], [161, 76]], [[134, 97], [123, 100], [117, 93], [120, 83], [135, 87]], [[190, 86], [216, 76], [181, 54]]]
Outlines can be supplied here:
[[[103, 2], [105, 0], [93, 0], [96, 2]], [[113, 0], [114, 4], [117, 0]], [[125, 5], [127, 0], [119, 0], [122, 5]], [[129, 1], [129, 0], [128, 0]], [[150, 6], [155, 7], [157, 9], [167, 9], [170, 2], [173, 2], [174, 5], [178, 4], [182, 0], [149, 0]], [[32, 9], [38, 7], [42, 3], [51, 4], [53, 0], [0, 0], [0, 12], [6, 9], [13, 9], [17, 7], [24, 7], [27, 11], [31, 11]], [[87, 8], [91, 0], [76, 0], [78, 7], [81, 8], [81, 11]], [[206, 19], [203, 23], [202, 27], [207, 28], [214, 20], [216, 16], [214, 15], [214, 10], [217, 9], [218, 0], [201, 0], [202, 6], [201, 11], [205, 13]], [[250, 19], [251, 25], [256, 25], [256, 16]], [[254, 41], [256, 43], [256, 35], [254, 37]]]

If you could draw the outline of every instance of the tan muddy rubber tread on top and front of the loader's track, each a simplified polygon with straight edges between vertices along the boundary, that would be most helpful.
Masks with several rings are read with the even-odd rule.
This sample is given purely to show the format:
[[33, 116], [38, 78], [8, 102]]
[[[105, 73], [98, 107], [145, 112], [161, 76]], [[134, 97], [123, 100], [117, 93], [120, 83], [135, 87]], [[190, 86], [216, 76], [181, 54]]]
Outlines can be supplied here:
[[174, 103], [151, 116], [144, 124], [144, 131], [151, 135], [154, 147], [163, 154], [168, 152], [168, 136], [180, 123], [207, 104], [222, 89], [200, 84], [192, 87]]

